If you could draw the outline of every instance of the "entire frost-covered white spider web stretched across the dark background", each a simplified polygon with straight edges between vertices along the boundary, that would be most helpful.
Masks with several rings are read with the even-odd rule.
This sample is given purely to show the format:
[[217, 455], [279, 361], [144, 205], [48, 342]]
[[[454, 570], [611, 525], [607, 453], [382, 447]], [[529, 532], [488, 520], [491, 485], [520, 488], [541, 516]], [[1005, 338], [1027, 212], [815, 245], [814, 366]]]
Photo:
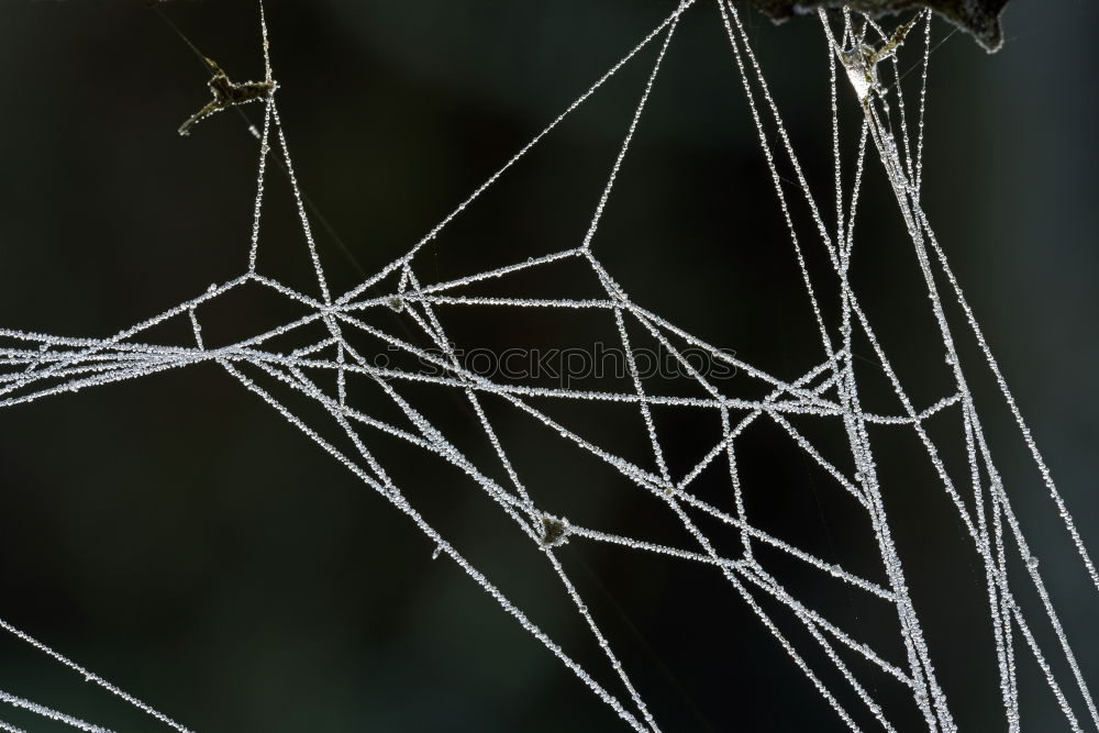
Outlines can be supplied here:
[[[674, 53], [680, 19], [696, 4], [693, 0], [682, 0], [675, 12], [406, 255], [343, 293], [333, 292], [330, 287], [295, 175], [276, 98], [274, 93], [268, 95], [263, 129], [255, 131], [259, 147], [258, 176], [245, 271], [225, 282], [211, 285], [206, 292], [107, 338], [0, 330], [0, 338], [3, 340], [0, 342], [0, 364], [4, 367], [0, 373], [0, 407], [199, 364], [217, 365], [406, 514], [434, 544], [436, 557], [445, 555], [453, 559], [528, 633], [636, 731], [657, 731], [658, 722], [566, 573], [558, 557], [559, 546], [566, 542], [581, 546], [587, 543], [618, 545], [639, 554], [662, 555], [714, 568], [747, 604], [761, 628], [775, 638], [782, 653], [851, 730], [862, 730], [867, 720], [874, 720], [882, 729], [893, 731], [898, 724], [896, 721], [908, 720], [913, 714], [930, 731], [957, 730], [951, 702], [933, 663], [934, 649], [926, 640], [909, 590], [906, 565], [893, 540], [890, 514], [882, 498], [881, 471], [872, 441], [872, 434], [876, 435], [880, 430], [904, 431], [918, 440], [924, 459], [930, 462], [937, 476], [939, 488], [953, 504], [964, 534], [979, 558], [985, 581], [983, 590], [987, 596], [987, 621], [995, 640], [996, 667], [1008, 730], [1021, 730], [1023, 702], [1020, 697], [1019, 662], [1024, 656], [1032, 657], [1041, 670], [1070, 730], [1083, 730], [1081, 717], [1077, 713], [1080, 710], [1084, 711], [1084, 724], [1099, 728], [1099, 713], [1094, 699], [1039, 570], [1037, 558], [1031, 552], [1012, 508], [1006, 481], [993, 462], [977, 400], [969, 387], [974, 377], [963, 368], [958, 345], [962, 338], [974, 342], [983, 355], [985, 367], [990, 369], [1002, 400], [1018, 423], [1030, 456], [1097, 589], [1099, 575], [921, 206], [923, 121], [932, 49], [930, 13], [924, 13], [904, 46], [911, 48], [922, 41], [923, 51], [918, 100], [914, 104], [910, 100], [906, 107], [900, 86], [901, 67], [896, 55], [881, 59], [880, 64], [875, 60], [874, 66], [867, 67], [865, 56], [845, 53], [863, 44], [873, 46], [876, 43], [880, 46], [890, 34], [868, 19], [853, 20], [846, 11], [842, 14], [840, 31], [836, 31], [833, 25], [837, 16], [820, 12], [831, 77], [835, 188], [834, 221], [826, 222], [736, 8], [724, 0], [717, 3], [720, 10], [718, 20], [732, 54], [731, 63], [742, 81], [788, 240], [812, 306], [822, 346], [815, 364], [800, 374], [779, 376], [737, 359], [635, 302], [596, 254], [595, 241], [623, 160], [630, 152], [660, 68], [667, 55]], [[856, 31], [859, 25], [862, 30]], [[270, 80], [263, 15], [260, 26], [267, 78]], [[918, 40], [918, 36], [922, 38]], [[428, 279], [424, 274], [429, 268], [423, 266], [425, 245], [435, 241], [455, 218], [504, 177], [512, 166], [609, 79], [625, 66], [636, 63], [643, 51], [654, 47], [655, 60], [582, 238], [565, 249], [465, 277], [445, 281]], [[876, 68], [877, 65], [884, 68]], [[844, 75], [853, 82], [863, 111], [855, 134], [858, 146], [853, 160], [841, 154], [840, 144], [840, 109], [848, 100], [840, 91], [837, 79]], [[876, 84], [870, 84], [872, 79]], [[315, 278], [312, 291], [290, 287], [262, 270], [262, 212], [265, 178], [273, 156], [281, 160], [288, 173]], [[850, 277], [864, 168], [874, 165], [868, 164], [867, 158], [881, 164], [891, 188], [917, 256], [919, 275], [926, 288], [944, 353], [944, 368], [952, 382], [950, 390], [929, 404], [917, 404], [910, 397], [910, 390], [906, 389], [888, 358]], [[850, 184], [845, 182], [844, 176], [848, 167], [853, 174], [848, 174], [852, 177]], [[788, 178], [791, 174], [792, 186]], [[800, 207], [804, 207], [812, 222], [808, 235], [799, 232], [795, 223], [795, 212]], [[811, 275], [804, 254], [807, 246], [821, 247], [831, 265], [834, 281], [828, 287], [837, 289], [837, 319], [825, 315], [829, 308], [824, 304], [823, 292], [828, 287], [822, 288]], [[530, 281], [543, 271], [562, 267], [574, 268], [578, 274], [579, 287], [586, 288], [582, 296], [531, 298], [508, 295], [517, 276], [521, 275]], [[946, 292], [943, 293], [943, 290]], [[207, 330], [217, 321], [218, 304], [231, 293], [254, 296], [257, 292], [284, 300], [300, 314], [232, 343], [213, 343]], [[452, 341], [452, 330], [444, 323], [448, 322], [451, 313], [458, 311], [476, 314], [500, 310], [513, 313], [564, 312], [578, 319], [578, 322], [582, 321], [587, 327], [604, 330], [625, 356], [628, 378], [599, 389], [552, 388], [533, 380], [492, 378], [469, 368], [460, 357], [459, 345]], [[948, 311], [952, 310], [964, 322], [964, 329], [958, 333], [955, 333], [948, 319]], [[833, 322], [830, 323], [830, 320]], [[185, 324], [192, 343], [165, 344], [148, 337], [158, 326], [173, 323]], [[858, 341], [873, 349], [876, 359], [874, 369], [878, 377], [884, 376], [888, 380], [896, 398], [896, 412], [877, 413], [864, 409], [863, 385], [867, 367], [856, 370], [855, 344]], [[639, 367], [640, 344], [658, 344], [670, 354], [682, 377], [680, 384], [671, 386], [650, 379]], [[391, 364], [379, 366], [374, 356], [381, 352], [396, 355]], [[752, 381], [752, 388], [732, 393], [726, 384], [699, 369], [688, 356], [689, 352], [704, 353], [714, 363], [736, 369], [737, 374]], [[444, 393], [456, 396], [468, 404], [477, 426], [474, 437], [482, 448], [487, 446], [487, 458], [467, 447], [474, 438], [468, 435], [448, 436], [439, 421], [432, 418], [430, 406], [441, 402]], [[421, 404], [423, 395], [430, 395], [429, 407]], [[375, 409], [379, 403], [386, 407]], [[621, 425], [622, 430], [643, 431], [647, 446], [645, 455], [626, 457], [607, 442], [590, 437], [587, 418], [584, 421], [575, 417], [569, 419], [567, 411], [565, 417], [556, 411], [557, 406], [569, 403], [606, 411], [604, 420]], [[632, 413], [628, 420], [621, 419], [623, 408]], [[668, 437], [662, 435], [659, 420], [655, 417], [657, 411], [667, 410], [674, 410], [691, 421], [706, 422], [720, 431], [713, 443], [699, 446], [700, 458], [685, 470], [675, 468], [668, 460]], [[517, 467], [515, 446], [499, 426], [502, 412], [522, 415], [536, 426], [541, 440], [547, 444], [554, 442], [587, 454], [634, 490], [651, 496], [654, 500], [651, 506], [663, 508], [680, 527], [681, 543], [669, 544], [578, 521], [570, 515], [568, 507], [559, 506], [556, 497], [541, 496], [534, 490], [531, 478]], [[942, 447], [929, 429], [929, 423], [934, 420], [950, 421], [964, 435], [966, 470], [961, 476], [950, 469], [941, 455]], [[831, 490], [841, 500], [853, 503], [861, 513], [874, 536], [874, 549], [881, 569], [879, 579], [870, 579], [842, 564], [807, 552], [799, 547], [797, 537], [778, 536], [753, 521], [747, 511], [747, 498], [763, 487], [742, 479], [739, 470], [743, 460], [740, 445], [745, 435], [763, 424], [779, 429], [791, 446], [830, 476]], [[810, 424], [812, 430], [807, 430]], [[846, 453], [833, 455], [834, 451], [819, 445], [811, 434], [820, 430], [842, 435]], [[600, 681], [601, 673], [593, 670], [591, 665], [581, 665], [553, 641], [534, 619], [509, 600], [452, 544], [452, 540], [418, 510], [408, 491], [387, 471], [387, 449], [384, 446], [392, 441], [436, 457], [449, 467], [455, 480], [471, 481], [542, 553], [559, 579], [563, 593], [601, 648], [606, 664], [603, 671], [608, 673], [610, 682]], [[718, 499], [697, 490], [700, 477], [714, 473], [723, 477], [725, 487], [723, 496]], [[462, 475], [465, 479], [460, 478]], [[773, 564], [768, 558], [775, 553], [814, 569], [834, 586], [836, 593], [855, 591], [873, 599], [881, 618], [889, 619], [893, 625], [899, 644], [890, 648], [875, 648], [859, 641], [857, 629], [841, 628], [804, 598], [789, 591], [778, 571], [770, 567]], [[1032, 587], [1035, 602], [1021, 601], [1019, 586], [1022, 584]], [[779, 619], [774, 611], [776, 608], [782, 609], [790, 618]], [[1051, 649], [1051, 644], [1044, 643], [1043, 636], [1035, 631], [1039, 624], [1052, 631], [1054, 648]], [[178, 731], [187, 730], [26, 633], [7, 622], [0, 621], [0, 625], [165, 725]], [[791, 628], [796, 628], [802, 636], [796, 637]], [[802, 648], [801, 642], [796, 641], [802, 637], [811, 638], [819, 648]], [[1054, 656], [1059, 659], [1054, 662]], [[866, 675], [859, 674], [861, 667], [853, 659], [858, 659], [862, 668], [868, 665], [876, 674], [882, 673], [891, 678], [901, 690], [903, 706], [884, 702], [877, 686], [866, 682]], [[1058, 665], [1068, 674], [1055, 671]], [[7, 691], [0, 690], [0, 701], [79, 730], [104, 730]], [[19, 729], [0, 722], [0, 730]]]

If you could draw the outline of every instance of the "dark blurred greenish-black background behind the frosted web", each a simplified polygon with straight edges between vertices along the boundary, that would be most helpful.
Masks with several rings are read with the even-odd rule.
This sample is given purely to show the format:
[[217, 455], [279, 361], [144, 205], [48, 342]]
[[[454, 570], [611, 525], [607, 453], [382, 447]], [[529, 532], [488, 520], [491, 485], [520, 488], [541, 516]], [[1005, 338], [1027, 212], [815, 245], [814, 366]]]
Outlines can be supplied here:
[[[333, 280], [347, 287], [356, 267], [373, 271], [407, 251], [674, 5], [270, 0], [298, 174], [358, 263], [322, 231]], [[160, 9], [233, 78], [262, 76], [254, 3], [175, 0]], [[207, 91], [171, 30], [136, 0], [13, 0], [2, 16], [0, 325], [111, 334], [241, 273], [255, 143], [233, 114], [203, 122], [190, 138], [176, 135]], [[817, 22], [746, 18], [826, 201], [826, 49]], [[931, 62], [924, 207], [1095, 547], [1099, 9], [1012, 0], [1004, 25], [1006, 45], [990, 56], [962, 33], [946, 37], [936, 21], [945, 41]], [[639, 58], [447, 230], [423, 258], [425, 277], [578, 243], [651, 60]], [[850, 154], [858, 112], [850, 96], [843, 101]], [[247, 111], [258, 119], [258, 105]], [[885, 179], [875, 164], [868, 170], [856, 277], [917, 401], [930, 403], [945, 386], [942, 357], [924, 348], [933, 324], [912, 253]], [[265, 216], [264, 266], [308, 281], [285, 187], [271, 185]], [[669, 51], [595, 246], [635, 300], [752, 364], [792, 377], [820, 358], [708, 3]], [[823, 275], [819, 253], [810, 266]], [[567, 274], [526, 284], [546, 293], [573, 285]], [[246, 329], [264, 308], [240, 303], [226, 327]], [[612, 337], [590, 324], [491, 323], [454, 329], [488, 347]], [[964, 358], [984, 376], [975, 354]], [[978, 386], [989, 406], [993, 388]], [[623, 432], [617, 418], [579, 417], [608, 440]], [[460, 411], [440, 420], [455, 435], [471, 430]], [[669, 420], [671, 459], [686, 460], [702, 429]], [[990, 408], [987, 427], [1085, 674], [1099, 678], [1095, 591], [1007, 412]], [[528, 436], [529, 425], [507, 429], [532, 486], [560, 513], [575, 500], [602, 525], [682, 543], [621, 481], [556, 453], [534, 431]], [[933, 430], [959, 442], [946, 425]], [[814, 437], [830, 445], [841, 436]], [[859, 559], [865, 527], [787, 443], [759, 430], [742, 445], [754, 515], [807, 548], [873, 568]], [[958, 542], [915, 446], [886, 436], [879, 445], [898, 542], [955, 713], [963, 730], [999, 730], [977, 559]], [[410, 452], [384, 455], [447, 536], [607, 680], [539, 554], [469, 482]], [[0, 618], [195, 730], [622, 728], [452, 563], [432, 562], [432, 549], [214, 367], [0, 412]], [[664, 730], [841, 730], [714, 573], [576, 542], [562, 556]], [[799, 568], [782, 571], [840, 625], [887, 638], [880, 609]], [[1042, 638], [1048, 647], [1048, 634]], [[887, 700], [896, 695], [886, 680], [873, 685]], [[1062, 730], [1033, 663], [1022, 685], [1024, 730]], [[0, 689], [116, 730], [155, 730], [13, 638], [0, 637]], [[18, 711], [0, 720], [56, 728]], [[915, 722], [897, 721], [900, 730]]]

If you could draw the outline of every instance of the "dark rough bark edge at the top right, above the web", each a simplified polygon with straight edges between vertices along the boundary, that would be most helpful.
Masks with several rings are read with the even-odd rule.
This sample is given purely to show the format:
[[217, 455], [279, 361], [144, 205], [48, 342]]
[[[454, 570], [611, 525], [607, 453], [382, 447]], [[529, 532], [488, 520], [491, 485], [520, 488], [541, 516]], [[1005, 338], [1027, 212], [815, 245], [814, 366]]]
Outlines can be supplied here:
[[972, 34], [988, 52], [1003, 43], [1000, 12], [1008, 0], [744, 0], [775, 20], [784, 20], [817, 8], [850, 5], [869, 14], [897, 13], [911, 8], [931, 8]]

